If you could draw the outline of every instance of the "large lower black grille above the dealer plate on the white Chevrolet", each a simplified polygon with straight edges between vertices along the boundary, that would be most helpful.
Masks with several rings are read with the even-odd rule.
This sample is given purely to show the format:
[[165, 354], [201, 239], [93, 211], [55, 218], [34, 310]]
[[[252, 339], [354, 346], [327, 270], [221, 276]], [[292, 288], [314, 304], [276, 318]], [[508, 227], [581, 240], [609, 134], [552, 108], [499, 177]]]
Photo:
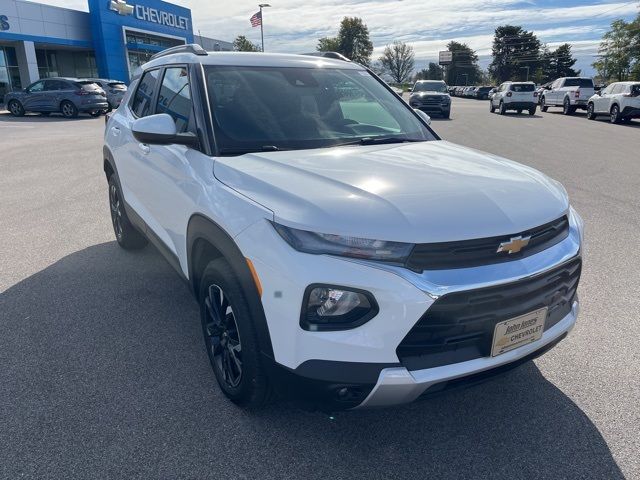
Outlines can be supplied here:
[[571, 311], [581, 268], [578, 257], [517, 282], [444, 295], [418, 320], [396, 354], [408, 370], [487, 357], [497, 323], [544, 307], [547, 330]]

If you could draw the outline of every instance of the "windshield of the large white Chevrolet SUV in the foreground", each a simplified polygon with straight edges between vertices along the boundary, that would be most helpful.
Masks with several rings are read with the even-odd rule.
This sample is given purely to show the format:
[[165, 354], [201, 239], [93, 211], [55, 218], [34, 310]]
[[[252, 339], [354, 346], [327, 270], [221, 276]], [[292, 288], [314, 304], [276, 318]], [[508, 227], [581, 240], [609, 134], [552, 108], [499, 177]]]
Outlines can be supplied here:
[[208, 66], [221, 153], [322, 148], [435, 137], [364, 70]]

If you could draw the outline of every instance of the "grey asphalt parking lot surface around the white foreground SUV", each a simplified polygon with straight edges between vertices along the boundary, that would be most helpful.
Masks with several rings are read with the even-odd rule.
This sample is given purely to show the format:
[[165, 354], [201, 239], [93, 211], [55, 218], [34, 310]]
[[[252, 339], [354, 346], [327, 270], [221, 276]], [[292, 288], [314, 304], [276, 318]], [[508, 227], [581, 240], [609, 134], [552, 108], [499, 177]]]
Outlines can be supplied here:
[[114, 241], [102, 118], [0, 112], [0, 478], [640, 478], [640, 121], [453, 101], [444, 139], [560, 180], [584, 217], [579, 323], [499, 379], [333, 416], [225, 400], [186, 286]]

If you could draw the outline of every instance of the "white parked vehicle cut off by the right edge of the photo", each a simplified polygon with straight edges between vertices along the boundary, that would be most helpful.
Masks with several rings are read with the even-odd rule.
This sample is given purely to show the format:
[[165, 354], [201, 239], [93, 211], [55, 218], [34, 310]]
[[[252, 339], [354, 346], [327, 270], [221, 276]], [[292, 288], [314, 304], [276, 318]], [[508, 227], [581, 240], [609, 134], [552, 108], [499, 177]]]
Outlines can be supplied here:
[[587, 118], [607, 115], [611, 123], [640, 118], [640, 82], [616, 82], [596, 93], [587, 104]]

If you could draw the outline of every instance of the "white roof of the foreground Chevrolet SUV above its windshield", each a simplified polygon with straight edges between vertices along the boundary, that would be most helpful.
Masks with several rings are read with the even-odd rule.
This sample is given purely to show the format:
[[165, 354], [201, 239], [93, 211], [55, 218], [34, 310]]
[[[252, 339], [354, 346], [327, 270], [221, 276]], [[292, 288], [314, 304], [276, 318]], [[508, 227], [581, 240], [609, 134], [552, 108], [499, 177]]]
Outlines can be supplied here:
[[[201, 63], [202, 65], [222, 65], [235, 67], [328, 67], [347, 70], [364, 70], [365, 67], [355, 62], [345, 62], [327, 57], [312, 55], [293, 55], [286, 53], [262, 52], [207, 52], [207, 55], [196, 55], [189, 52], [172, 53], [155, 58], [140, 67], [147, 70], [170, 63]], [[136, 71], [136, 75], [139, 70]]]

